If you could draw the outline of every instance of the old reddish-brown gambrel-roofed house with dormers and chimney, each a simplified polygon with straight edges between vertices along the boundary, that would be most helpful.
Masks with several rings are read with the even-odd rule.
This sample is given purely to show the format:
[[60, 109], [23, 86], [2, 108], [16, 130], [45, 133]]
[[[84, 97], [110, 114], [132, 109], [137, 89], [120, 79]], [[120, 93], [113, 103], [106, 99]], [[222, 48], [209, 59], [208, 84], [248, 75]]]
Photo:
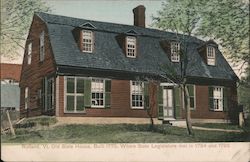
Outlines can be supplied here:
[[[133, 26], [35, 13], [22, 116], [146, 119], [152, 107], [155, 120], [183, 119], [183, 95], [170, 75], [180, 75], [181, 44], [175, 33], [145, 27], [144, 6], [133, 13]], [[192, 118], [235, 119], [237, 76], [215, 42], [187, 40]]]

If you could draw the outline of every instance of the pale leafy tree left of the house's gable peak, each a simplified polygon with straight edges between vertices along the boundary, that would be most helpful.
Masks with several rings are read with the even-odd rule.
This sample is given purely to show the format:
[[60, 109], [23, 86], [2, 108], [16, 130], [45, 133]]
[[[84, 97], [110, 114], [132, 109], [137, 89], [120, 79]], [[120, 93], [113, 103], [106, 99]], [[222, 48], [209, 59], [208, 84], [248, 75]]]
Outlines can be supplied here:
[[42, 0], [1, 0], [1, 56], [14, 58], [24, 49], [36, 11], [48, 12]]

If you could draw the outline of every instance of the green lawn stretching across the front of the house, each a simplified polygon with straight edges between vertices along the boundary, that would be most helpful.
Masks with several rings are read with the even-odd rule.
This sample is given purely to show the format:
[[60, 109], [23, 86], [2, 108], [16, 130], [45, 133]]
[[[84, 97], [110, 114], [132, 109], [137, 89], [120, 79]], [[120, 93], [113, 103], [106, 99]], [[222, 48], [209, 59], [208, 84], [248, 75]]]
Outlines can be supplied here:
[[4, 143], [167, 143], [167, 142], [242, 142], [250, 141], [249, 132], [219, 132], [194, 130], [188, 136], [185, 128], [157, 125], [149, 131], [149, 125], [59, 125], [17, 128], [16, 137], [2, 135]]

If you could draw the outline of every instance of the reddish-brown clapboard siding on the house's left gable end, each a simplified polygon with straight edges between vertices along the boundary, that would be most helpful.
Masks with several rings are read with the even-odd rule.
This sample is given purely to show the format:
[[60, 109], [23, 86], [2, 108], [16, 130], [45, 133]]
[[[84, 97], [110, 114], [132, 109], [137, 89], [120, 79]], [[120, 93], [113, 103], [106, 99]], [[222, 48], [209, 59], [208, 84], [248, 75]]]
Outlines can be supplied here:
[[[39, 61], [39, 44], [40, 33], [44, 30], [44, 61]], [[55, 62], [52, 54], [52, 48], [48, 37], [48, 30], [44, 22], [34, 16], [29, 35], [26, 42], [27, 45], [32, 42], [32, 59], [31, 64], [27, 64], [27, 51], [24, 52], [23, 67], [21, 73], [20, 87], [20, 114], [22, 117], [37, 116], [42, 114], [42, 107], [38, 104], [38, 90], [42, 88], [42, 79], [45, 76], [55, 73]], [[29, 109], [24, 109], [24, 90], [29, 87]]]

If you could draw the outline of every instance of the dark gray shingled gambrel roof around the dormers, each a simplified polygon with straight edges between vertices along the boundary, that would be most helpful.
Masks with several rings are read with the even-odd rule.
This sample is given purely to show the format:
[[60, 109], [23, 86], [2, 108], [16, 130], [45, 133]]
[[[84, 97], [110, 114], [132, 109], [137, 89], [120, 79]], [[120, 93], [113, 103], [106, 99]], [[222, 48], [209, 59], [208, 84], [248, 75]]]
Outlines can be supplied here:
[[[84, 20], [47, 13], [36, 13], [46, 24], [57, 66], [104, 69], [146, 74], [165, 75], [164, 67], [174, 67], [180, 73], [180, 64], [171, 63], [160, 46], [161, 40], [175, 39], [176, 34], [137, 26]], [[95, 50], [92, 54], [80, 51], [72, 30], [84, 23], [91, 23], [95, 30]], [[127, 58], [115, 37], [119, 33], [134, 30], [138, 33], [138, 56]], [[205, 42], [195, 37], [188, 39], [188, 69], [190, 77], [235, 80], [237, 76], [219, 50], [216, 51], [216, 66], [208, 66], [198, 53]]]

